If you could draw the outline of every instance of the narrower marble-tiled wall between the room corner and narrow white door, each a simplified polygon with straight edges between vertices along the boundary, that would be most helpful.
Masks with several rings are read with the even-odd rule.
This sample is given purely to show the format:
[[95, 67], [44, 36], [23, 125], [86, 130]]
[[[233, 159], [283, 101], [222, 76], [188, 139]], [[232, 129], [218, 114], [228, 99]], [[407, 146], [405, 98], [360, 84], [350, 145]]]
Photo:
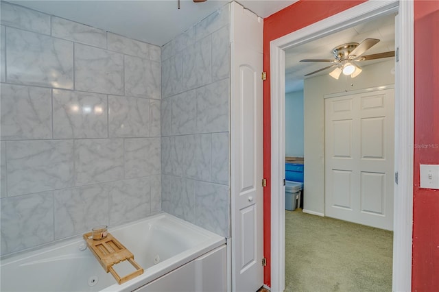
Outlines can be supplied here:
[[230, 235], [229, 5], [162, 47], [162, 208]]

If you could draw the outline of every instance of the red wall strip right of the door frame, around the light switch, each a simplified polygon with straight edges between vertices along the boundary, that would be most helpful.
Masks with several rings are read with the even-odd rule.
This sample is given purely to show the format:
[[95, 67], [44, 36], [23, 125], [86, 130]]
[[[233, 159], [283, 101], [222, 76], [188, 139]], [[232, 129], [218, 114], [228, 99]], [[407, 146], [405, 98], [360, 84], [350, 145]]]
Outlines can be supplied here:
[[439, 191], [419, 165], [439, 165], [439, 1], [414, 1], [413, 291], [439, 291]]

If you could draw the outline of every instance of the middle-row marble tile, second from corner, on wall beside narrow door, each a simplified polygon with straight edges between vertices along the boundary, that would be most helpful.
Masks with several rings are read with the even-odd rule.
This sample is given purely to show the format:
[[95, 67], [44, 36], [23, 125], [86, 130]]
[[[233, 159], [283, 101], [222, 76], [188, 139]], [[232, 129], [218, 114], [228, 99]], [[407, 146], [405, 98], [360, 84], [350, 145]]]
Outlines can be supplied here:
[[170, 99], [172, 100], [172, 134], [195, 133], [195, 90]]

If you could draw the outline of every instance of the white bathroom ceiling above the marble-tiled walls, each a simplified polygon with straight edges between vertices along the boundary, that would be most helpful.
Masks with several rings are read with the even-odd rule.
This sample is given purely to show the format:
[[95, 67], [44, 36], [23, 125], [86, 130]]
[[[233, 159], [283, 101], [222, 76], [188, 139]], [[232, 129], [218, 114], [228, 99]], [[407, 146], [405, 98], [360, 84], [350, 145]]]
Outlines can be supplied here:
[[[296, 1], [239, 0], [237, 2], [265, 18]], [[177, 8], [177, 0], [11, 0], [9, 2], [162, 46], [230, 0], [208, 0], [204, 3], [180, 0], [180, 10]]]

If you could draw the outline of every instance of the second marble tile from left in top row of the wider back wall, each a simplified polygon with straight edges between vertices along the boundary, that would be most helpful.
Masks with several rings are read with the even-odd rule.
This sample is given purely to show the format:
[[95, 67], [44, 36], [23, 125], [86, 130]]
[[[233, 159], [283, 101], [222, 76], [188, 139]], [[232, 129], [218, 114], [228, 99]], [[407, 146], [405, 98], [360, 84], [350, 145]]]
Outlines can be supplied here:
[[52, 16], [52, 36], [102, 47], [103, 49], [107, 47], [107, 36], [104, 30], [68, 21], [67, 19], [60, 19], [56, 16]]

